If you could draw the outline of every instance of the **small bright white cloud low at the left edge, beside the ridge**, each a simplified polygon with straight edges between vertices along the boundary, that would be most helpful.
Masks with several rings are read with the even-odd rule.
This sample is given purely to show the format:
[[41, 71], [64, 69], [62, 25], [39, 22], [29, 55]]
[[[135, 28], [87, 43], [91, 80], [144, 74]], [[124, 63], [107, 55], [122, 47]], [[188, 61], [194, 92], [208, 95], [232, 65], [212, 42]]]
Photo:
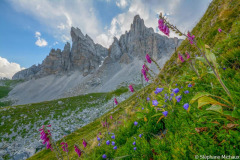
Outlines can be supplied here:
[[19, 64], [8, 62], [6, 58], [0, 57], [0, 78], [12, 78], [12, 76], [25, 68], [20, 67]]

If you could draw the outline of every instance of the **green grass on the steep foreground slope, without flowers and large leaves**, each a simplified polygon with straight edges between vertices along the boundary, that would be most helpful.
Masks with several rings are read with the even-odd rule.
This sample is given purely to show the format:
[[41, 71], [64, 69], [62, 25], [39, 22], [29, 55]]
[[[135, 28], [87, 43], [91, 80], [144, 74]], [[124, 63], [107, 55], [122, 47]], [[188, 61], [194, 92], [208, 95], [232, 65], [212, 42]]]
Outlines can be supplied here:
[[[230, 90], [232, 100], [224, 92], [214, 75], [206, 72], [208, 70], [206, 65], [200, 61], [194, 63], [201, 75], [201, 78], [198, 78], [187, 63], [178, 62], [178, 52], [190, 51], [192, 55], [199, 54], [196, 48], [185, 40], [165, 64], [153, 84], [134, 93], [114, 110], [66, 137], [70, 157], [77, 159], [73, 146], [75, 143], [82, 146], [82, 138], [89, 142], [88, 147], [84, 149], [83, 159], [102, 159], [103, 154], [115, 159], [194, 159], [195, 155], [239, 156], [240, 121], [239, 118], [231, 118], [232, 109], [223, 108], [223, 112], [219, 113], [206, 110], [211, 106], [209, 104], [199, 108], [197, 102], [190, 104], [189, 112], [183, 108], [183, 105], [190, 103], [198, 92], [208, 92], [231, 101], [234, 103], [235, 111], [240, 112], [239, 8], [239, 1], [213, 0], [192, 31], [196, 37], [203, 39], [204, 43], [214, 50], [219, 64], [219, 73]], [[218, 28], [223, 29], [227, 34], [218, 33]], [[223, 70], [223, 68], [227, 69]], [[189, 83], [194, 86], [187, 87]], [[164, 94], [171, 93], [171, 89], [176, 88], [175, 84], [178, 84], [179, 88], [183, 86], [178, 93], [182, 95], [182, 100], [180, 103], [166, 102], [169, 103], [165, 108], [169, 114], [157, 123], [158, 118], [162, 116], [162, 111], [158, 111], [157, 107], [153, 107], [151, 102], [146, 102], [145, 99], [147, 96], [151, 97], [151, 100], [157, 99], [158, 107], [161, 108], [163, 104], [166, 104]], [[162, 95], [153, 93], [157, 87], [164, 88]], [[190, 93], [184, 94], [185, 90], [189, 90]], [[223, 100], [219, 102], [227, 104]], [[144, 110], [141, 109], [142, 107]], [[227, 114], [229, 115], [226, 116]], [[109, 119], [110, 115], [114, 117], [113, 120]], [[101, 147], [97, 146], [96, 136], [99, 132], [103, 133], [101, 136], [103, 143], [111, 139], [108, 134], [105, 134], [106, 128], [100, 124], [105, 119], [108, 119], [110, 123], [109, 131], [116, 135], [117, 150], [113, 150], [113, 146], [104, 144]], [[121, 123], [116, 124], [118, 121]], [[134, 121], [138, 121], [139, 125], [134, 126]], [[164, 135], [162, 132], [165, 129], [167, 133]], [[138, 135], [141, 133], [143, 137], [139, 138]], [[136, 151], [133, 150], [133, 141], [137, 142]], [[57, 144], [60, 142], [61, 140]], [[56, 158], [53, 152], [44, 149], [29, 159], [52, 160]]]

